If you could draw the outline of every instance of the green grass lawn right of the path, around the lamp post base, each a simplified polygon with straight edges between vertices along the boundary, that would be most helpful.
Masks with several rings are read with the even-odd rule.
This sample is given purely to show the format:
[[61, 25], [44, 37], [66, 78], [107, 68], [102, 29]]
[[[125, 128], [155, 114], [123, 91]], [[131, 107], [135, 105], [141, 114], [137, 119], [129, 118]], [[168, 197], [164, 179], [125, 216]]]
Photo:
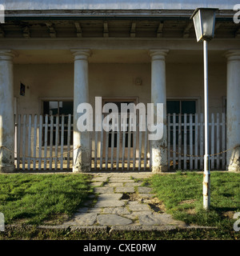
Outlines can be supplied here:
[[154, 174], [146, 182], [153, 186], [158, 199], [174, 218], [232, 231], [236, 221], [233, 215], [240, 212], [240, 174], [211, 172], [209, 211], [202, 208], [202, 179], [202, 174], [195, 172], [177, 172]]

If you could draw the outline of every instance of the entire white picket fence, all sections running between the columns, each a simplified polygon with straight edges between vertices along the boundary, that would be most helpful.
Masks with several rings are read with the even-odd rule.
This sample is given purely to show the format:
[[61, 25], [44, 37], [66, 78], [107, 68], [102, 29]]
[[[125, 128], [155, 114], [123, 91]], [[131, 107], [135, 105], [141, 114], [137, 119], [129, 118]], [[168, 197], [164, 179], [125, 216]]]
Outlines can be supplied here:
[[[120, 123], [120, 122], [119, 122]], [[93, 170], [150, 170], [148, 133], [139, 131], [91, 132]], [[167, 115], [169, 170], [202, 170], [203, 114]], [[71, 115], [18, 115], [15, 119], [15, 166], [18, 170], [70, 170], [73, 166]], [[225, 169], [226, 116], [210, 120], [211, 169]]]

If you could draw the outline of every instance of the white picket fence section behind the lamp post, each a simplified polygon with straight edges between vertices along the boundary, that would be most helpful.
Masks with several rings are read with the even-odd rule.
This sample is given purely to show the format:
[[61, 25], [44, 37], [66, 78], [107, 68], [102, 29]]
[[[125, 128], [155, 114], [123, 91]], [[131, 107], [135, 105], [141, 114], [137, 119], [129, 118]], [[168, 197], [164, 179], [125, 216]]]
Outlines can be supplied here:
[[[203, 114], [168, 114], [169, 169], [203, 170], [203, 118]], [[209, 126], [210, 169], [225, 170], [226, 153], [222, 151], [226, 150], [226, 114], [211, 114]]]

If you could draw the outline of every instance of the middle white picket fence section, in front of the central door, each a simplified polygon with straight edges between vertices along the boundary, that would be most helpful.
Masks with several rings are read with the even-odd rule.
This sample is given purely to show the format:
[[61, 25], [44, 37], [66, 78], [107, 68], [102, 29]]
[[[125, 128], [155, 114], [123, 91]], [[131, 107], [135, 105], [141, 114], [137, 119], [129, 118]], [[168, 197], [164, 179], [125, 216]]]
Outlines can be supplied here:
[[[103, 120], [103, 116], [102, 116]], [[150, 170], [150, 141], [148, 131], [129, 131], [129, 125], [118, 116], [118, 131], [92, 133], [92, 159], [94, 170]], [[146, 119], [147, 122], [147, 119]], [[120, 124], [127, 126], [120, 131]], [[112, 124], [114, 125], [114, 124]], [[147, 127], [147, 123], [146, 123]]]

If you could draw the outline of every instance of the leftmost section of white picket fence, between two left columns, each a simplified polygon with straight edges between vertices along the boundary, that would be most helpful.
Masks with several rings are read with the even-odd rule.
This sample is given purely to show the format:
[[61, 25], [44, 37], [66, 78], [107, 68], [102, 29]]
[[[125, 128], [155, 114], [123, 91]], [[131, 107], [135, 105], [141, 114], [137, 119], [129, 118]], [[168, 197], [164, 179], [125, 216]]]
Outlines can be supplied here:
[[22, 170], [69, 170], [72, 166], [71, 115], [18, 115], [15, 165]]

